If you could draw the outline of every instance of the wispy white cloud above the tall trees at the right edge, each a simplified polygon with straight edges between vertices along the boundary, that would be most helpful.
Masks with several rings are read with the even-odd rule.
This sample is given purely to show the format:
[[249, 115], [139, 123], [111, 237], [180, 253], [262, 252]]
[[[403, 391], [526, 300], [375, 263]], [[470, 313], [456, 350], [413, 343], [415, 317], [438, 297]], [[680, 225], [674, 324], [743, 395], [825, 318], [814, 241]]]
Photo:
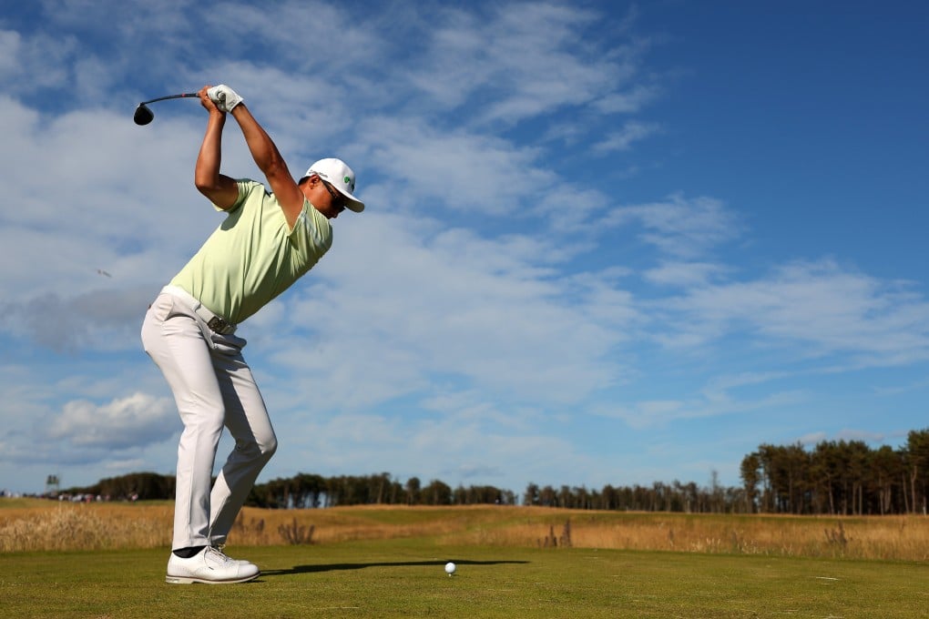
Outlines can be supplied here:
[[828, 260], [689, 290], [668, 306], [688, 325], [679, 332], [690, 335], [747, 329], [767, 342], [800, 343], [806, 354], [850, 354], [875, 365], [929, 358], [929, 303], [921, 295]]

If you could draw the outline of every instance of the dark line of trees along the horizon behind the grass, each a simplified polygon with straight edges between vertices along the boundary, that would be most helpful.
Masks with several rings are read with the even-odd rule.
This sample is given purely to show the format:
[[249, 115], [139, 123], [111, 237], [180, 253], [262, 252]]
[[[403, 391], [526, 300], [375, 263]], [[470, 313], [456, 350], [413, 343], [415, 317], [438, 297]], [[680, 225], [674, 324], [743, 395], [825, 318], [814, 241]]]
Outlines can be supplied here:
[[[742, 485], [727, 487], [711, 472], [710, 483], [586, 486], [530, 483], [522, 504], [569, 509], [671, 511], [693, 513], [784, 513], [864, 515], [927, 513], [929, 501], [929, 429], [909, 432], [899, 449], [871, 449], [862, 441], [822, 441], [759, 445], [741, 461]], [[69, 494], [112, 500], [170, 499], [175, 478], [142, 472], [100, 480]], [[352, 505], [517, 505], [519, 497], [492, 485], [440, 480], [404, 483], [388, 472], [325, 477], [294, 477], [255, 484], [246, 505], [268, 509], [317, 509]]]

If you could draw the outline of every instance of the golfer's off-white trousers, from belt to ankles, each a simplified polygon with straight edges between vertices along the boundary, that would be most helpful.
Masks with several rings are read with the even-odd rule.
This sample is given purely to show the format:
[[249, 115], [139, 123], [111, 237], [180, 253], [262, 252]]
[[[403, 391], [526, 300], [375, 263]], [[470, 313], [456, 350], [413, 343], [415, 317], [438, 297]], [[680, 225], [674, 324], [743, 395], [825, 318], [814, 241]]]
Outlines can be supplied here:
[[[162, 370], [184, 423], [172, 548], [224, 544], [277, 449], [268, 409], [242, 357], [245, 340], [213, 332], [183, 300], [163, 290], [145, 315], [142, 344]], [[223, 426], [235, 447], [211, 490]]]

